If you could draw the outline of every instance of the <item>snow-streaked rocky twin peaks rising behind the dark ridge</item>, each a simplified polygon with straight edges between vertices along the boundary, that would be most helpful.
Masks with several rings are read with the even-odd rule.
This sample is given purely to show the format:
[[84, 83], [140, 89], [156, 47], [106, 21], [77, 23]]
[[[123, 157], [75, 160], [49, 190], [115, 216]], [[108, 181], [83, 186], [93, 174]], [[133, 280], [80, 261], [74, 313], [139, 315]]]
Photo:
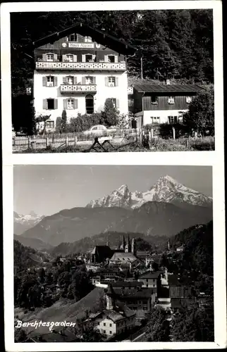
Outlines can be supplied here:
[[123, 184], [111, 194], [97, 200], [90, 201], [87, 208], [113, 207], [121, 208], [140, 208], [142, 204], [148, 201], [157, 201], [165, 203], [188, 203], [193, 206], [211, 206], [211, 197], [185, 187], [171, 176], [162, 176], [145, 192], [130, 192], [128, 186]]

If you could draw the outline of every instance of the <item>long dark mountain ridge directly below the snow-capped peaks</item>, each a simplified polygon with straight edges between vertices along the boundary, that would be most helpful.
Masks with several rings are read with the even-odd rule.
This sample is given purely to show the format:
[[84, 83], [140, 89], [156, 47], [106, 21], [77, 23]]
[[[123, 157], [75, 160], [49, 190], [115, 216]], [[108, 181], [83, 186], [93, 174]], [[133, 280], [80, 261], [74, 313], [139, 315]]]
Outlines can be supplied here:
[[102, 232], [134, 232], [167, 236], [212, 219], [212, 209], [182, 208], [172, 203], [147, 202], [140, 208], [72, 208], [42, 219], [23, 237], [40, 239], [51, 246], [75, 242]]

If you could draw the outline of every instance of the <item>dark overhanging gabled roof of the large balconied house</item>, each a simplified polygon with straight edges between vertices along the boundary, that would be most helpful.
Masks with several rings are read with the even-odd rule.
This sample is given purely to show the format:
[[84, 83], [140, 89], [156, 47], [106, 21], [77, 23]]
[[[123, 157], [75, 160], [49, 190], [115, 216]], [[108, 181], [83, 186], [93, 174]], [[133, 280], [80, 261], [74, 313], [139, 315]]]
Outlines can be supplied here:
[[57, 40], [68, 36], [72, 33], [78, 33], [83, 36], [92, 37], [94, 42], [98, 44], [102, 44], [104, 46], [108, 46], [110, 49], [118, 52], [123, 55], [133, 55], [137, 49], [135, 46], [128, 44], [124, 40], [120, 40], [102, 30], [97, 30], [95, 28], [90, 27], [89, 25], [83, 25], [82, 23], [78, 23], [71, 27], [66, 28], [65, 30], [60, 30], [59, 32], [54, 32], [53, 34], [49, 34], [44, 38], [38, 39], [35, 42], [32, 42], [30, 46], [31, 49], [35, 49], [39, 46], [43, 46], [45, 44], [54, 43]]

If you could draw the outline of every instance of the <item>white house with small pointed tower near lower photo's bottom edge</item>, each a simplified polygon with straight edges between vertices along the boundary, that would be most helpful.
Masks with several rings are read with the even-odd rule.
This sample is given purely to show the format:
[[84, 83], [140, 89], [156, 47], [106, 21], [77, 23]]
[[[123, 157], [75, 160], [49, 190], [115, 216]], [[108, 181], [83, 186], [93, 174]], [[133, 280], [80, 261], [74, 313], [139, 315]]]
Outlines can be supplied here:
[[106, 309], [90, 314], [88, 321], [92, 320], [95, 329], [106, 338], [111, 338], [123, 332], [130, 332], [135, 327], [135, 312], [116, 301], [113, 287], [109, 285], [106, 291]]

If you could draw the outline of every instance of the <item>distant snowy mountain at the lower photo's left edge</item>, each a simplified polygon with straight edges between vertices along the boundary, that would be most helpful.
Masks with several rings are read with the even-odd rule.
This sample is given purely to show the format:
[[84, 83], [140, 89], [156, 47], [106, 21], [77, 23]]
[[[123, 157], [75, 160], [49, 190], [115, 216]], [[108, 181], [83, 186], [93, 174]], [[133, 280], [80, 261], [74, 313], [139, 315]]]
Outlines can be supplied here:
[[43, 215], [37, 215], [34, 211], [30, 214], [21, 215], [13, 211], [13, 228], [15, 234], [23, 234], [26, 230], [34, 227], [40, 220], [44, 218]]

